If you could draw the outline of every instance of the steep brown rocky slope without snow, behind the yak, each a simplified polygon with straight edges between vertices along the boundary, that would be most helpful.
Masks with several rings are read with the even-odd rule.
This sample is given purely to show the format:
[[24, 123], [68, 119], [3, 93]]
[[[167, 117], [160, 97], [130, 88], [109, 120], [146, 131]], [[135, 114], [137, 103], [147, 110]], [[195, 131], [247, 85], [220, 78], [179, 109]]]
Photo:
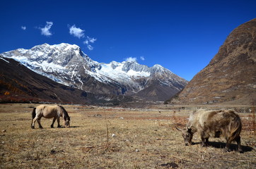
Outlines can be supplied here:
[[228, 35], [209, 65], [173, 97], [176, 104], [245, 104], [256, 99], [256, 18]]

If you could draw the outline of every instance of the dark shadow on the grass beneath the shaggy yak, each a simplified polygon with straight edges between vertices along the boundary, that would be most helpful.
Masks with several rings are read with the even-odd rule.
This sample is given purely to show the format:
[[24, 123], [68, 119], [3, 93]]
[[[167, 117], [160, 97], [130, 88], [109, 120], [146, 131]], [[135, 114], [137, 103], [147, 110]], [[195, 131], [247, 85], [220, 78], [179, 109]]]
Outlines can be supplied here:
[[[201, 144], [201, 142], [192, 142], [192, 145]], [[226, 143], [223, 142], [209, 142], [209, 146], [212, 146], [216, 149], [225, 149]], [[238, 145], [237, 144], [231, 144], [230, 146], [231, 151], [237, 151]], [[253, 148], [250, 146], [243, 146], [242, 145], [243, 152], [252, 151]]]

